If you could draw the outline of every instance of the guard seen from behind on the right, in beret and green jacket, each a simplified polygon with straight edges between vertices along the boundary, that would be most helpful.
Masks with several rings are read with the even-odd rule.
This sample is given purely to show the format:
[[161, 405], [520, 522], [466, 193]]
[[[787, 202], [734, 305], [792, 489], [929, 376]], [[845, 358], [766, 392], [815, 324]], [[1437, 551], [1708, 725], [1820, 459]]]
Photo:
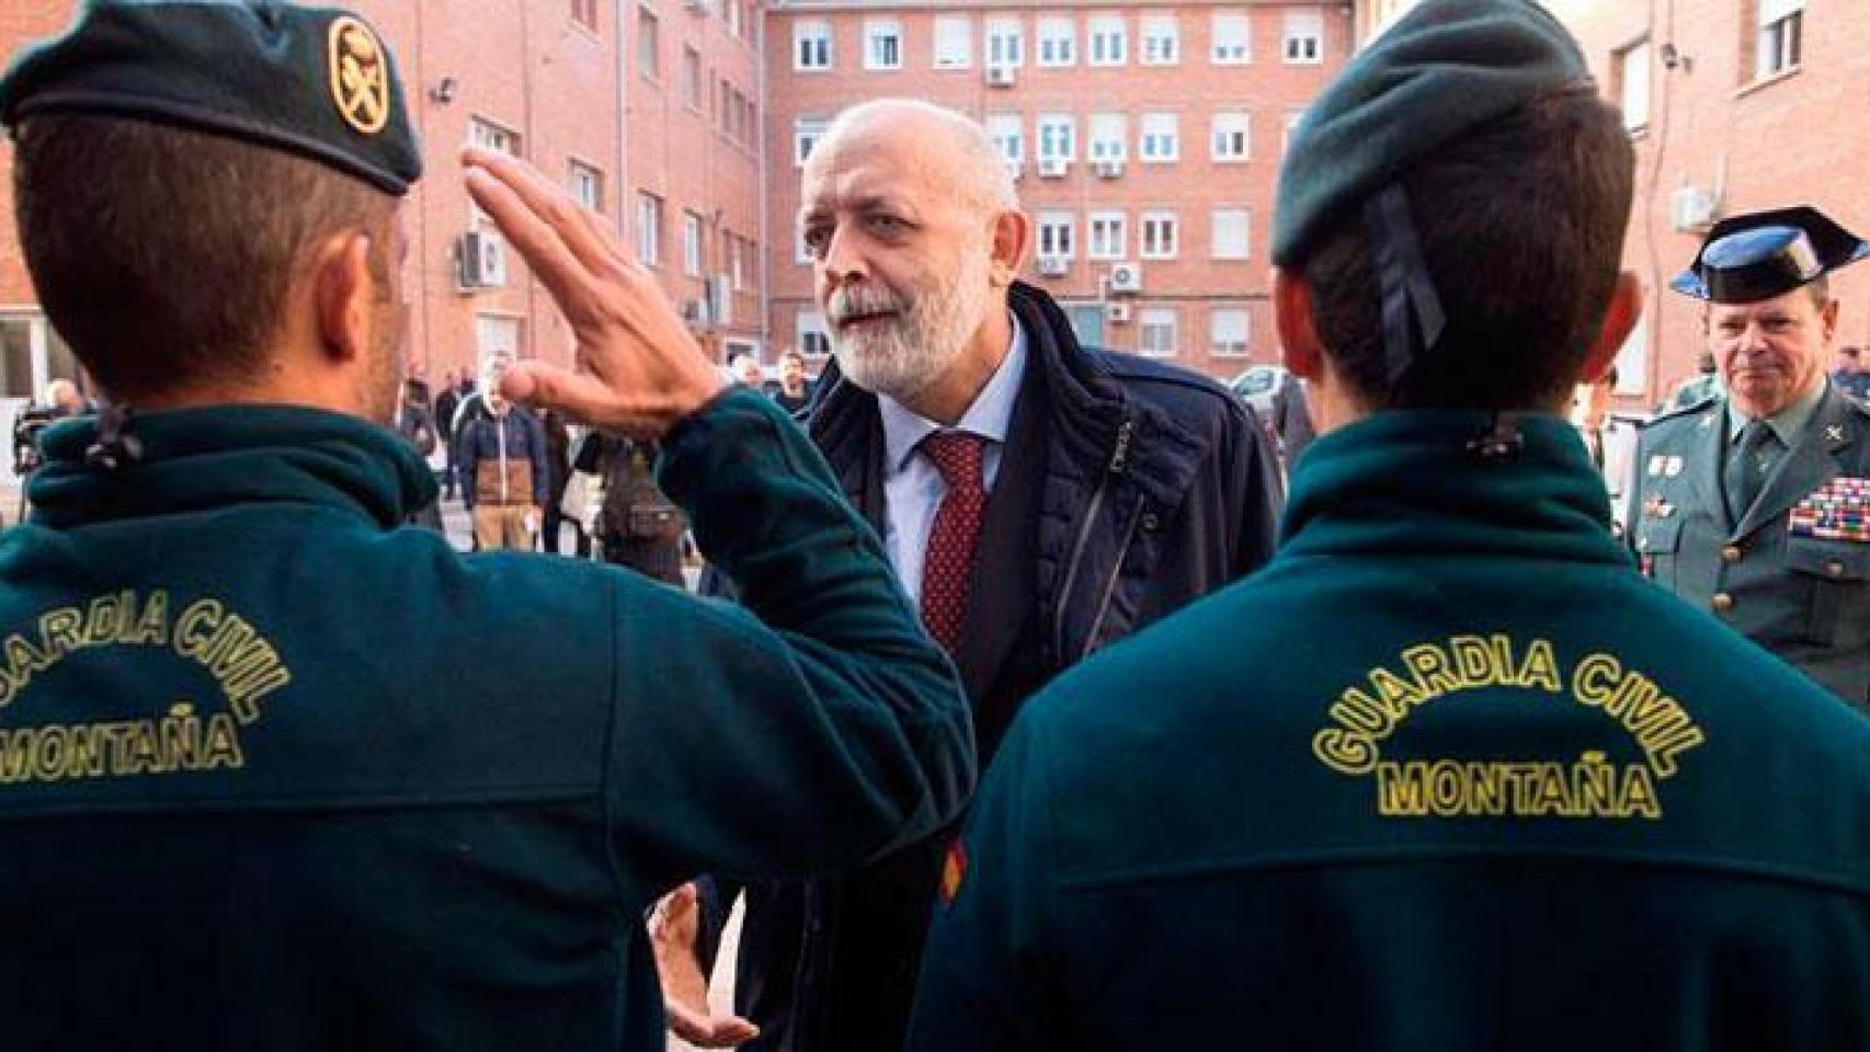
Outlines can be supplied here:
[[1528, 0], [1423, 0], [1307, 107], [1279, 553], [1025, 706], [913, 1052], [1866, 1046], [1870, 721], [1631, 574], [1563, 419], [1633, 187]]

